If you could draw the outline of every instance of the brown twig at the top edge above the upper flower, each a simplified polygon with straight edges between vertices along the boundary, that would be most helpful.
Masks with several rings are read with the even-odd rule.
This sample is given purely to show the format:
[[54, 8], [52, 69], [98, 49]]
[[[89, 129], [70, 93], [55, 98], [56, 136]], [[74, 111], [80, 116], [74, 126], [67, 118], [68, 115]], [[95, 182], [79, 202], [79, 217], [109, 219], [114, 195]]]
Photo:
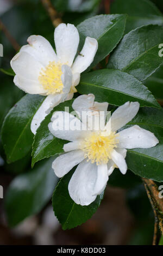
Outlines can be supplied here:
[[51, 18], [53, 26], [56, 28], [60, 23], [62, 23], [62, 20], [61, 20], [59, 14], [54, 9], [50, 0], [41, 0], [41, 2], [43, 4], [43, 7], [46, 9], [49, 17]]

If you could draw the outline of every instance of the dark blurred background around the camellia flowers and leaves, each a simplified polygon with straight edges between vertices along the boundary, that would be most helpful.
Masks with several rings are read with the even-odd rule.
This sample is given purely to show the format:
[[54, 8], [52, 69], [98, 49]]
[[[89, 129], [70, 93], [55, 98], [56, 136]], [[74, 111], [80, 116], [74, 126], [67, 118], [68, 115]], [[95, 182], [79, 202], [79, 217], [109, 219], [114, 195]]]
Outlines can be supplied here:
[[[75, 3], [75, 1], [77, 0], [71, 2]], [[52, 1], [62, 20], [74, 25], [96, 14], [111, 13], [112, 2], [114, 1], [82, 1], [77, 5], [72, 4], [72, 8], [68, 9], [62, 0]], [[153, 2], [161, 11], [163, 10], [161, 0]], [[128, 12], [127, 8], [126, 13]], [[142, 11], [141, 15], [143, 16]], [[5, 29], [2, 28], [1, 22]], [[10, 39], [8, 32], [12, 36]], [[53, 33], [54, 27], [41, 1], [0, 0], [0, 43], [4, 46], [4, 57], [0, 57], [0, 68], [10, 68], [10, 59], [16, 53], [16, 44], [20, 46], [26, 44], [29, 35], [40, 34], [54, 45]], [[23, 92], [14, 86], [12, 80], [13, 77], [0, 72], [0, 128], [9, 109], [23, 96]], [[150, 83], [147, 83], [147, 86], [151, 88]], [[160, 101], [163, 99], [159, 87], [158, 90], [154, 89], [153, 93]], [[15, 228], [9, 228], [4, 210], [5, 192], [16, 174], [30, 169], [30, 155], [23, 160], [7, 164], [1, 141], [0, 155], [0, 185], [4, 188], [4, 199], [0, 199], [0, 245], [152, 244], [154, 216], [151, 205], [141, 179], [130, 171], [125, 178], [118, 170], [115, 171], [109, 180], [100, 208], [80, 227], [63, 231], [54, 217], [49, 202], [40, 214], [29, 217]]]

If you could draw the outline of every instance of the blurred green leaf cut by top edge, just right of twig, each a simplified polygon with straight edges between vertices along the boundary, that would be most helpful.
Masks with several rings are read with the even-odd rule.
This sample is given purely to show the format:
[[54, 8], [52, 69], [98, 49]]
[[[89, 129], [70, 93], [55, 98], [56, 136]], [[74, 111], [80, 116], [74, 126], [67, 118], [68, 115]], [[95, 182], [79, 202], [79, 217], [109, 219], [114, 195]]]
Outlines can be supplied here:
[[65, 11], [91, 11], [95, 8], [100, 0], [87, 0], [87, 1], [77, 1], [77, 0], [52, 0], [54, 7], [57, 11], [65, 12]]

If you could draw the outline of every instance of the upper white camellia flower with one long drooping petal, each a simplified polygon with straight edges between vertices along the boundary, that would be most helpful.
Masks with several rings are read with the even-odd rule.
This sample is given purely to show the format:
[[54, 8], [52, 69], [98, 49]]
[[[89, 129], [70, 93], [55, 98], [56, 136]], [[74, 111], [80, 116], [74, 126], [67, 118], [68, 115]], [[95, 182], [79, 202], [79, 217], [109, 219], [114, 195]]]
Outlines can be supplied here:
[[[31, 35], [28, 45], [11, 60], [15, 72], [14, 83], [29, 94], [47, 95], [31, 123], [35, 134], [41, 121], [60, 102], [70, 100], [77, 92], [80, 73], [93, 62], [98, 48], [94, 38], [86, 37], [82, 51], [76, 59], [79, 33], [72, 24], [60, 24], [54, 31], [56, 52], [41, 35]], [[73, 62], [74, 60], [74, 62]]]

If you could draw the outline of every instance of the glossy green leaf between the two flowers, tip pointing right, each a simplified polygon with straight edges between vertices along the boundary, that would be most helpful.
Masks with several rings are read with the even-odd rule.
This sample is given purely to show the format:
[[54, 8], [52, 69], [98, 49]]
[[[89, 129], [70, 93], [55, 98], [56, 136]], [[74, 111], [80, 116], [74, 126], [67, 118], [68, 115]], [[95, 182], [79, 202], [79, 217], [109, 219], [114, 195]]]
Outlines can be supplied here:
[[103, 69], [83, 74], [77, 90], [81, 94], [93, 93], [97, 101], [107, 101], [116, 106], [126, 101], [138, 101], [140, 106], [160, 108], [139, 80], [120, 70]]

